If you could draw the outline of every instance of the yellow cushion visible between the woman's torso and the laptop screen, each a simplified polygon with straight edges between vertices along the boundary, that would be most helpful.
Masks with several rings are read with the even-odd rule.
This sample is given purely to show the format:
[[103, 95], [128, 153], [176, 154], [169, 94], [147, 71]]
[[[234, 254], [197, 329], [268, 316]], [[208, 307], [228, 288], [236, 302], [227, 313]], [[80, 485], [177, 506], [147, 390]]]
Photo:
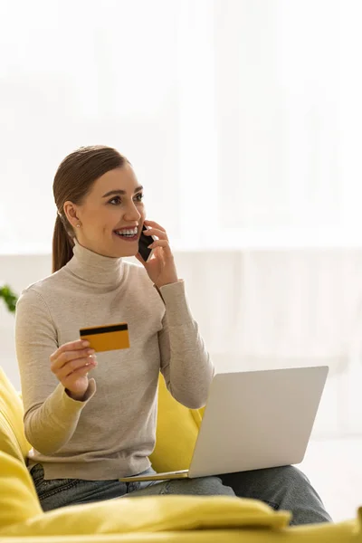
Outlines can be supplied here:
[[159, 376], [156, 447], [150, 455], [154, 470], [173, 472], [189, 467], [202, 414], [201, 409], [188, 409], [176, 402]]

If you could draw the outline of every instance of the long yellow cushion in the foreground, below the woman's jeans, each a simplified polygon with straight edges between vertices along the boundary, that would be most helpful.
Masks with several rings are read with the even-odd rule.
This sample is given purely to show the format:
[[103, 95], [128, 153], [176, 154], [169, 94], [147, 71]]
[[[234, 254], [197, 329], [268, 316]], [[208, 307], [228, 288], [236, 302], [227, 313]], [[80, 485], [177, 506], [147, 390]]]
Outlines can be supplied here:
[[[0, 529], [0, 536], [126, 534], [187, 529], [288, 526], [291, 513], [274, 511], [258, 500], [228, 496], [145, 496], [72, 505]], [[1, 523], [0, 523], [1, 526]]]

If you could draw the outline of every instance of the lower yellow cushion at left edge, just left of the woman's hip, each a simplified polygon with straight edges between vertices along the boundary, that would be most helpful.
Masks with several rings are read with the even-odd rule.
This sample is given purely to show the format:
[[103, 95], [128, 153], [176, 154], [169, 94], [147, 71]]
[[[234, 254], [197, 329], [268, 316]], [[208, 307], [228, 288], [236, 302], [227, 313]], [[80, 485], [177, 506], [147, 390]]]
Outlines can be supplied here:
[[0, 451], [0, 526], [9, 527], [39, 514], [43, 510], [24, 462]]

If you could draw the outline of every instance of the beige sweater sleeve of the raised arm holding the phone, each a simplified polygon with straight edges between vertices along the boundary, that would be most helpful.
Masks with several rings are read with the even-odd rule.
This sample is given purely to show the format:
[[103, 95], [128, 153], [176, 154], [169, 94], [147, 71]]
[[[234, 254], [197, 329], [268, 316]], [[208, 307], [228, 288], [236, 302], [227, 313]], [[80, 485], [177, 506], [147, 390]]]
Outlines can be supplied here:
[[158, 332], [161, 372], [174, 398], [190, 409], [206, 403], [214, 366], [186, 300], [185, 283], [159, 289], [166, 313]]

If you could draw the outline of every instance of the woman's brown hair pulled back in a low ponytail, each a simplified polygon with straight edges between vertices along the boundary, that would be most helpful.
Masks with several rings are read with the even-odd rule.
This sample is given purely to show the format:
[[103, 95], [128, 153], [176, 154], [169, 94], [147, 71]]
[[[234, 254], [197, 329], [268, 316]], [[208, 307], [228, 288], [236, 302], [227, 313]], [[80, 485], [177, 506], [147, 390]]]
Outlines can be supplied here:
[[62, 160], [52, 184], [58, 210], [52, 234], [52, 272], [65, 266], [73, 255], [75, 233], [63, 211], [65, 202], [81, 205], [100, 176], [126, 163], [127, 158], [116, 149], [102, 145], [79, 148]]

